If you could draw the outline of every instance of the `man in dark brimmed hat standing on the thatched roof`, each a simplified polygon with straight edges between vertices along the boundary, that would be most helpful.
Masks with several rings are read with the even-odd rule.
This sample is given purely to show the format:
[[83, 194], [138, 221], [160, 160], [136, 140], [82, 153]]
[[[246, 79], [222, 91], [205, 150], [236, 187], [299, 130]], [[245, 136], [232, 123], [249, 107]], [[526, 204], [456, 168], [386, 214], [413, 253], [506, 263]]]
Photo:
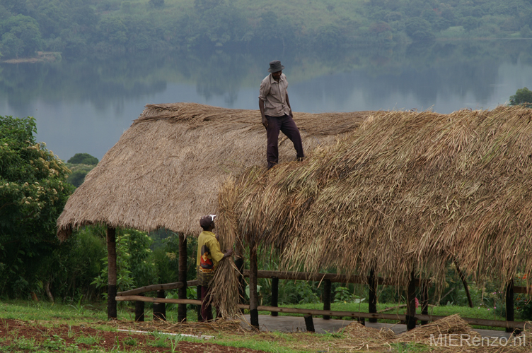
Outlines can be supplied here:
[[266, 148], [268, 169], [279, 162], [279, 146], [277, 144], [279, 130], [294, 143], [297, 160], [303, 160], [305, 157], [299, 129], [292, 119], [294, 115], [288, 99], [288, 81], [287, 76], [282, 73], [283, 69], [284, 66], [281, 65], [281, 61], [271, 61], [268, 69], [270, 75], [266, 76], [260, 83], [259, 109], [268, 140]]

